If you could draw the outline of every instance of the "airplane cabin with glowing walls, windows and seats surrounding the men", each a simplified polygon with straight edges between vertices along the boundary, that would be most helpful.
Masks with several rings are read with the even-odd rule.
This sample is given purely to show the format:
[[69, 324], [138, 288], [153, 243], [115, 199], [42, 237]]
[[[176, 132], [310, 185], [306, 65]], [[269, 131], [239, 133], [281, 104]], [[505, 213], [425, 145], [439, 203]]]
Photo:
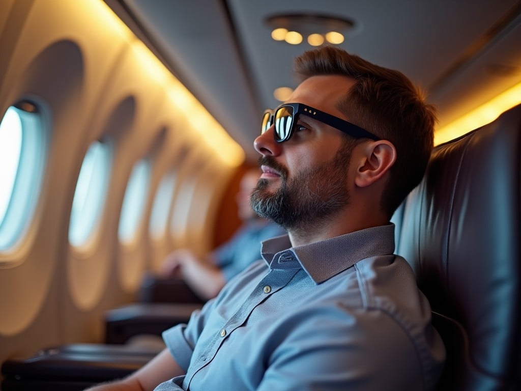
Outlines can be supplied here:
[[240, 227], [262, 113], [322, 45], [437, 109], [392, 219], [446, 347], [436, 389], [521, 389], [519, 0], [2, 0], [0, 390], [126, 376], [162, 349], [129, 342], [201, 308], [155, 274]]

